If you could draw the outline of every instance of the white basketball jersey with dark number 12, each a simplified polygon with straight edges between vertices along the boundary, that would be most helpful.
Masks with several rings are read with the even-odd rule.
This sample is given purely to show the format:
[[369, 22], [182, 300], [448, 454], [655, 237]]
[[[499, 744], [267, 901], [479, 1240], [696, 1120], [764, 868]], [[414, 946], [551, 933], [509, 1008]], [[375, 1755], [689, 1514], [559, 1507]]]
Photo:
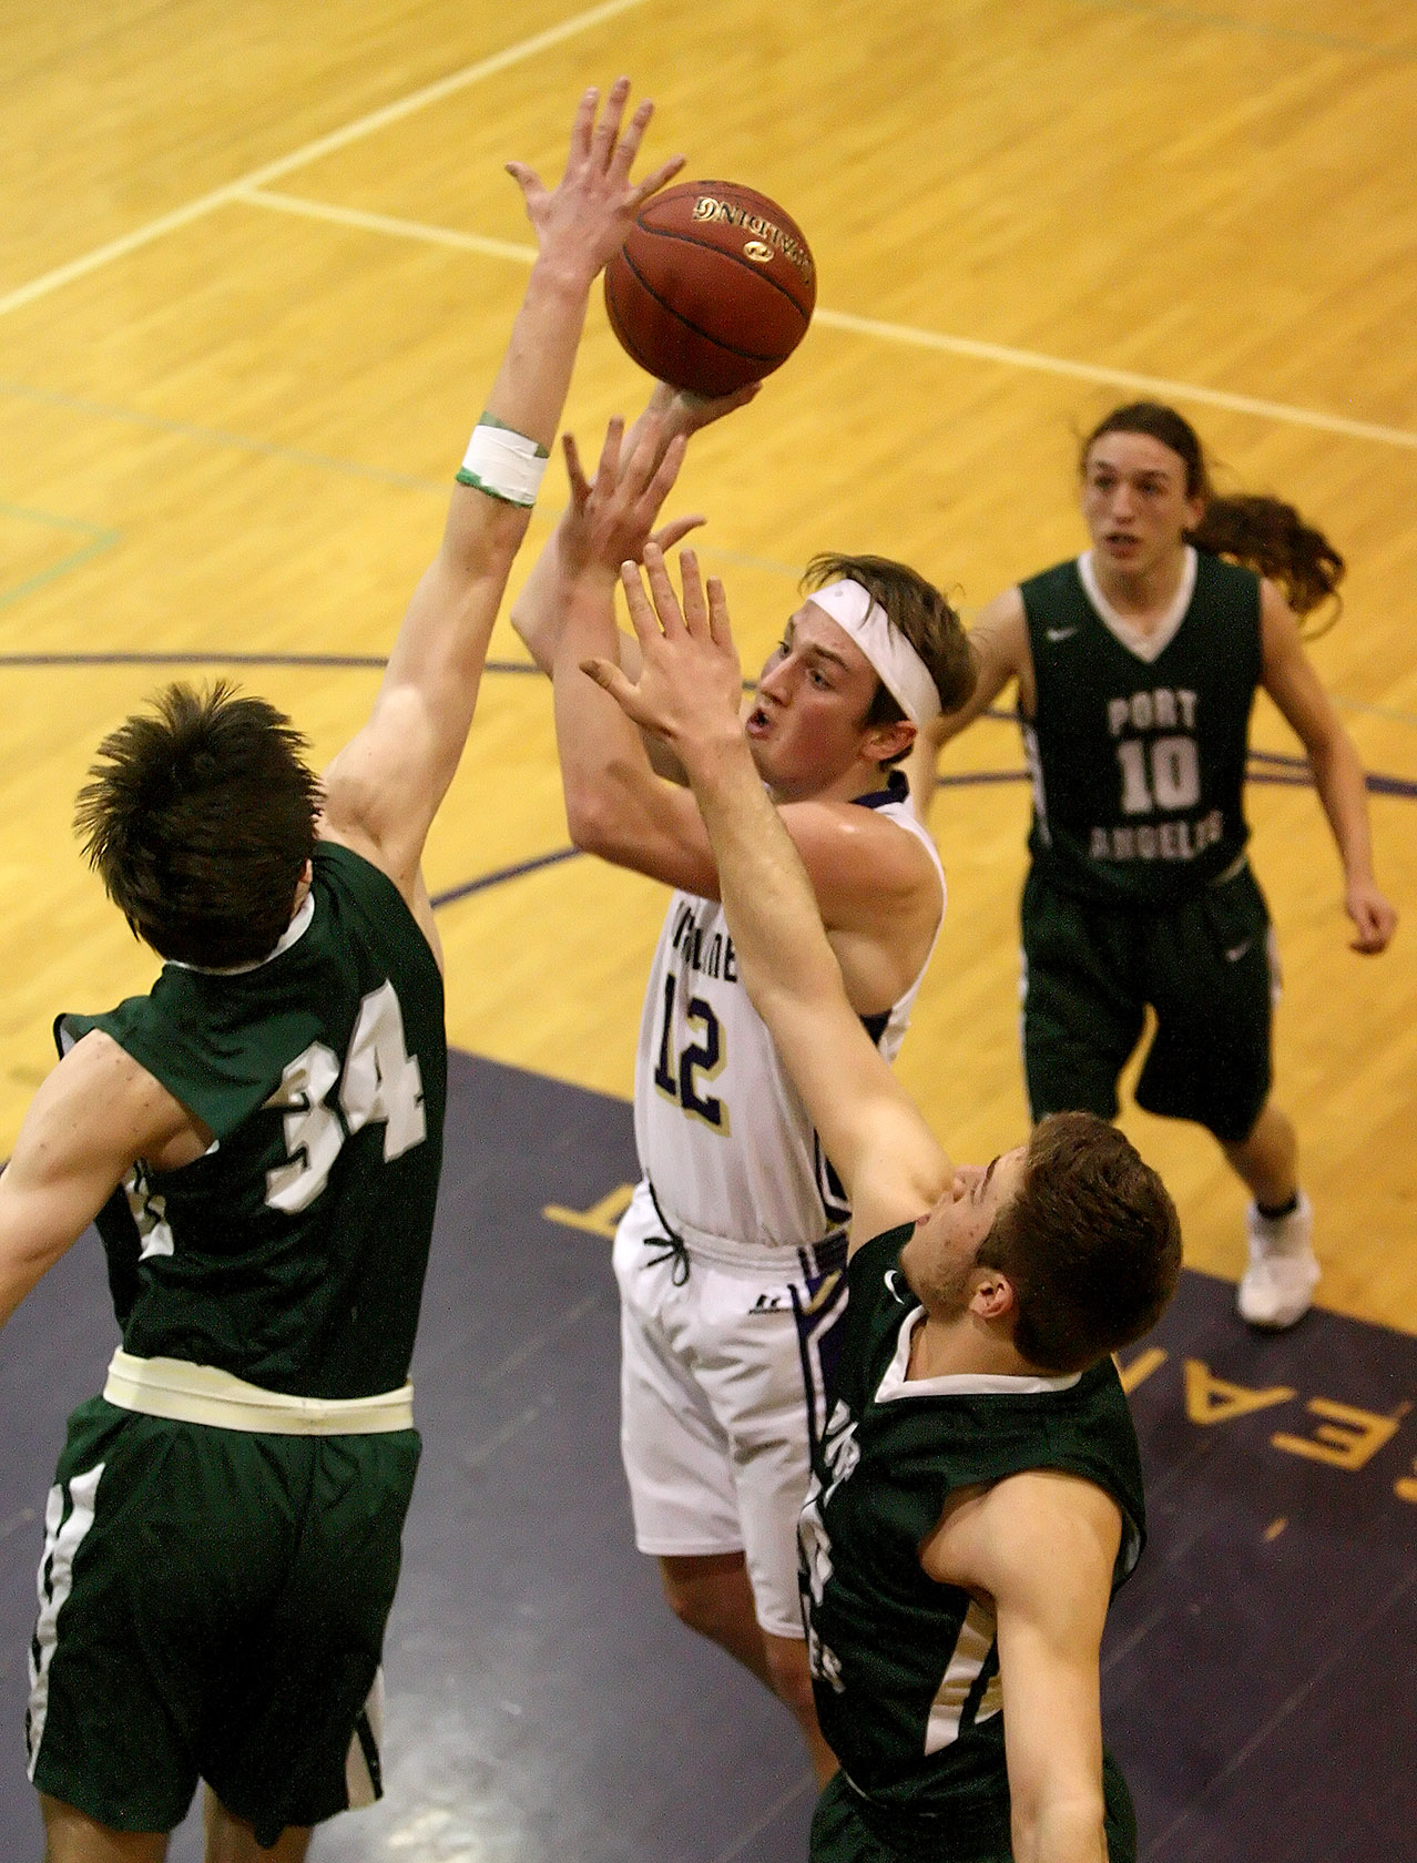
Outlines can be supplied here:
[[[909, 801], [886, 790], [860, 801], [929, 850], [944, 889], [935, 842]], [[925, 963], [890, 1012], [864, 1017], [886, 1060], [901, 1045]], [[635, 1144], [665, 1222], [689, 1243], [801, 1248], [851, 1218], [767, 1025], [749, 1002], [724, 909], [695, 892], [674, 894], [650, 971], [635, 1060]]]

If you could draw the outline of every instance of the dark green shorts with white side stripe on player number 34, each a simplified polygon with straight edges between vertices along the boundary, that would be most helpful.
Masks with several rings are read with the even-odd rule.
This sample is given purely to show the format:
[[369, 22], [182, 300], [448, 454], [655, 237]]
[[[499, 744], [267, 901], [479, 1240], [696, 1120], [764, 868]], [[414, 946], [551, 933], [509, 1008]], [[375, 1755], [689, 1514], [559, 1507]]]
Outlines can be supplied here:
[[39, 1790], [117, 1831], [169, 1831], [205, 1779], [263, 1846], [378, 1798], [417, 1462], [413, 1429], [276, 1436], [80, 1405], [30, 1652]]

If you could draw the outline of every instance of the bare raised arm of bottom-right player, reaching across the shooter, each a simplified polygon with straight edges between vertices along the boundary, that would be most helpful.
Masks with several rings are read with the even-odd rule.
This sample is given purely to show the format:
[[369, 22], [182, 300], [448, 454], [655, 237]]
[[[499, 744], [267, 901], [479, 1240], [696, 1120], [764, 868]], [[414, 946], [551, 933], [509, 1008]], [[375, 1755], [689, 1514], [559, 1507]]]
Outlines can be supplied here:
[[689, 775], [743, 982], [845, 1183], [860, 1243], [924, 1215], [950, 1181], [950, 1161], [847, 1002], [812, 881], [758, 777], [722, 585], [711, 579], [706, 594], [689, 550], [680, 564], [682, 605], [654, 544], [644, 551], [650, 596], [633, 564], [622, 570], [639, 682], [609, 658], [585, 671], [635, 725], [663, 736]]

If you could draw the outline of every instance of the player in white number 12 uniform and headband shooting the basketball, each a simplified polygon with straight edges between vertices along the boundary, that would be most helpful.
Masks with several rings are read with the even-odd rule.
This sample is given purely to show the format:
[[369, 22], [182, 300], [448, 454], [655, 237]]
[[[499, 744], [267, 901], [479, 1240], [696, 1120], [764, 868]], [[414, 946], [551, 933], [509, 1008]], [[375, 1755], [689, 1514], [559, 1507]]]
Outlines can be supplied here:
[[[821, 1777], [797, 1604], [795, 1522], [842, 1312], [849, 1207], [737, 978], [698, 807], [583, 673], [631, 669], [618, 564], [639, 557], [687, 434], [722, 404], [659, 389], [572, 501], [512, 620], [553, 671], [577, 846], [676, 889], [635, 1069], [644, 1181], [620, 1224], [622, 1451], [635, 1543], [674, 1611], [793, 1710]], [[672, 436], [672, 438], [670, 438]], [[657, 533], [668, 542], [689, 525]], [[747, 700], [758, 769], [816, 885], [857, 1013], [894, 1054], [944, 913], [938, 855], [896, 764], [974, 687], [959, 619], [914, 570], [814, 559], [808, 598]]]

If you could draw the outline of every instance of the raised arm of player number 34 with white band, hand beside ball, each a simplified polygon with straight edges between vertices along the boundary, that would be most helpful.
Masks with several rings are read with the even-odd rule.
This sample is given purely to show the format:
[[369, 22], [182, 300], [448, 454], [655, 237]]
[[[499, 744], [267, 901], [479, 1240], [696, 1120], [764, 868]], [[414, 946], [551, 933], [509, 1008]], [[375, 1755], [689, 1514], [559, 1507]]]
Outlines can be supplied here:
[[[603, 112], [598, 93], [585, 93], [555, 190], [520, 162], [506, 164], [525, 196], [538, 257], [479, 436], [488, 430], [484, 451], [510, 447], [516, 456], [510, 466], [482, 468], [482, 484], [454, 488], [441, 548], [404, 615], [372, 715], [326, 771], [322, 835], [382, 866], [421, 920], [428, 918], [419, 887], [423, 844], [462, 756], [534, 499], [536, 469], [521, 460], [544, 460], [551, 447], [596, 274], [624, 242], [639, 205], [682, 166], [674, 158], [631, 183], [650, 104], [639, 106], [622, 134], [628, 91], [629, 80], [616, 80]], [[432, 932], [430, 918], [425, 930]]]

